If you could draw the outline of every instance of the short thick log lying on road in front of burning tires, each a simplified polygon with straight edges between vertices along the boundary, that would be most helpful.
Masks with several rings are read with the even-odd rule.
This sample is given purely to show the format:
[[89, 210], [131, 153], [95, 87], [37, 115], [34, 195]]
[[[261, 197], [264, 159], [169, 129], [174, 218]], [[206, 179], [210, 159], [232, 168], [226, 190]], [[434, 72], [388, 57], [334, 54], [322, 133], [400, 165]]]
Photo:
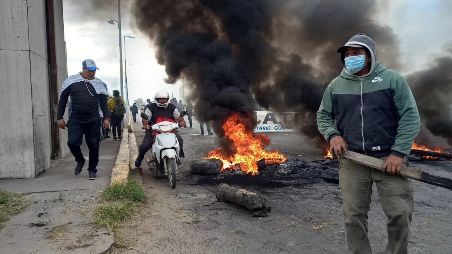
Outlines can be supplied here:
[[266, 198], [244, 189], [231, 187], [226, 183], [218, 185], [217, 200], [245, 207], [254, 216], [264, 217], [272, 211]]

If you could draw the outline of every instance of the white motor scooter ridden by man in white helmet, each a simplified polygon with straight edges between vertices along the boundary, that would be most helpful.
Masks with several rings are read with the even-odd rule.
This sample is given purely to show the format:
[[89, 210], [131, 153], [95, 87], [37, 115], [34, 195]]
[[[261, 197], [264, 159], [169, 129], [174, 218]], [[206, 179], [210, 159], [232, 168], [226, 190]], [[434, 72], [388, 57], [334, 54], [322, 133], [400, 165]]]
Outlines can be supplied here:
[[[184, 117], [185, 111], [180, 113]], [[149, 120], [145, 113], [141, 118]], [[168, 175], [171, 188], [176, 188], [177, 160], [179, 160], [179, 141], [174, 131], [179, 128], [175, 122], [150, 122], [154, 144], [152, 144], [152, 158], [146, 158], [149, 169], [157, 176]], [[142, 128], [144, 129], [144, 127]]]

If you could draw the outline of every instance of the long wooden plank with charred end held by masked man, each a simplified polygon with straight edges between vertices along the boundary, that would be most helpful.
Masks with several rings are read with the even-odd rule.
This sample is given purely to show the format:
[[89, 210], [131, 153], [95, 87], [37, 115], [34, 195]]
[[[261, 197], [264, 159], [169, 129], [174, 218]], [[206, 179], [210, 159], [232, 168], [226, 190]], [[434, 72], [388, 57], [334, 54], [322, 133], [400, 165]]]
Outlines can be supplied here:
[[[348, 154], [345, 154], [344, 151], [342, 152], [342, 155], [344, 156], [344, 159], [350, 160], [353, 162], [356, 162], [361, 165], [365, 165], [374, 169], [380, 169], [383, 167], [383, 164], [385, 163], [384, 160], [380, 160], [378, 158], [374, 158], [371, 156], [359, 154], [353, 151], [348, 151]], [[407, 167], [405, 165], [402, 165], [402, 169], [400, 169], [400, 175], [405, 176], [406, 178], [410, 178], [413, 180], [417, 180], [419, 182], [423, 183], [429, 183], [432, 185], [436, 185], [439, 187], [447, 188], [452, 190], [452, 179], [448, 179], [441, 176], [436, 176], [433, 174], [428, 174], [427, 172], [418, 170], [418, 169], [412, 169], [410, 167]]]

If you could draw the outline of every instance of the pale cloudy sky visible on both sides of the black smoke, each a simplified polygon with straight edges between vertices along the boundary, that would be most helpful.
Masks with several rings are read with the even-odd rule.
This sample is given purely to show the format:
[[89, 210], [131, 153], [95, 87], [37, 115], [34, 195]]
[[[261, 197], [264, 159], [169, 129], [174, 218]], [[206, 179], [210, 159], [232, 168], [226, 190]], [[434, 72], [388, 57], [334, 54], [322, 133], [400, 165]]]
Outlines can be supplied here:
[[[112, 93], [120, 87], [119, 39], [117, 25], [107, 21], [118, 20], [118, 13], [114, 8], [104, 12], [87, 9], [90, 1], [63, 0], [68, 75], [80, 71], [83, 60], [93, 59], [100, 69], [97, 77], [108, 84]], [[127, 54], [130, 101], [152, 99], [157, 91], [167, 91], [178, 100], [184, 99], [184, 93], [187, 95], [189, 91], [184, 90], [181, 82], [165, 84], [165, 68], [156, 63], [154, 48], [134, 29], [127, 5], [121, 9], [122, 36], [135, 37], [126, 38], [125, 45], [122, 41], [123, 58], [124, 52]], [[405, 63], [406, 72], [421, 69], [429, 59], [442, 52], [444, 45], [452, 45], [452, 1], [381, 0], [380, 9], [379, 21], [391, 26], [400, 40], [401, 61]]]

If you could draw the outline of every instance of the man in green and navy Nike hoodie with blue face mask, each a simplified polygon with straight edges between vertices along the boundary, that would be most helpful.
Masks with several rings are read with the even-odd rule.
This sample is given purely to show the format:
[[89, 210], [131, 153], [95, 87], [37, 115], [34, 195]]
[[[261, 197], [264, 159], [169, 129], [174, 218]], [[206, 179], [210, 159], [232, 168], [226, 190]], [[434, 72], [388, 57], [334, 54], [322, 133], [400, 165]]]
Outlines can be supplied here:
[[371, 38], [358, 33], [337, 52], [345, 68], [325, 91], [317, 112], [319, 131], [338, 157], [350, 150], [385, 160], [381, 171], [339, 159], [348, 249], [353, 254], [372, 253], [367, 212], [375, 182], [388, 217], [385, 253], [407, 254], [413, 186], [398, 174], [402, 164], [408, 165], [406, 155], [419, 133], [416, 102], [404, 77], [376, 61]]

